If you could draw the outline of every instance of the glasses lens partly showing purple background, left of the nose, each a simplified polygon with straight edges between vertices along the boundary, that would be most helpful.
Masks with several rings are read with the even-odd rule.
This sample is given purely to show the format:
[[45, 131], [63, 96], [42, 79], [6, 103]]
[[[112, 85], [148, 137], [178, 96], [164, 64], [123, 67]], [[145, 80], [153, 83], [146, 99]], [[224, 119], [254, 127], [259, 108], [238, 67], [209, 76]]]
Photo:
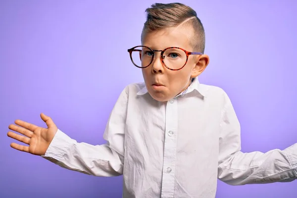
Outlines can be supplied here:
[[138, 47], [132, 51], [132, 61], [138, 67], [147, 67], [153, 57], [153, 51], [147, 47]]

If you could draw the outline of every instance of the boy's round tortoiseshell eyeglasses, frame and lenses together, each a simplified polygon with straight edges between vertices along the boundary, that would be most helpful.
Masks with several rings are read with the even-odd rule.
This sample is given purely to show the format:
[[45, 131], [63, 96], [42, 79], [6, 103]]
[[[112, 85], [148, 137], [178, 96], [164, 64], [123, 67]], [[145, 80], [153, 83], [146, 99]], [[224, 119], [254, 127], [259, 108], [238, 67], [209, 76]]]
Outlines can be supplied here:
[[128, 49], [132, 63], [139, 68], [148, 67], [152, 63], [156, 51], [161, 51], [161, 61], [163, 65], [173, 71], [182, 69], [187, 64], [189, 55], [202, 54], [200, 52], [186, 51], [185, 49], [177, 47], [152, 50], [146, 46], [136, 46]]

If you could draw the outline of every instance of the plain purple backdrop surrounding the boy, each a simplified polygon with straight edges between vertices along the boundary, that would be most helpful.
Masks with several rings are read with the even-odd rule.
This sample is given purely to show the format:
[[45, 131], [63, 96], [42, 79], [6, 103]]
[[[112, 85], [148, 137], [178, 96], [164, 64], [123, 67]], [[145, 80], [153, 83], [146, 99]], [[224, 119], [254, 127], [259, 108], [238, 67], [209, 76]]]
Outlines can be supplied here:
[[[39, 116], [44, 112], [78, 142], [103, 144], [120, 92], [143, 81], [127, 49], [140, 44], [144, 11], [154, 2], [0, 1], [1, 198], [121, 197], [122, 177], [60, 168], [10, 148], [6, 133], [15, 119], [46, 126]], [[210, 64], [199, 80], [231, 98], [242, 125], [242, 151], [295, 144], [297, 1], [181, 2], [197, 11], [206, 31]], [[219, 181], [216, 198], [295, 198], [296, 184]]]

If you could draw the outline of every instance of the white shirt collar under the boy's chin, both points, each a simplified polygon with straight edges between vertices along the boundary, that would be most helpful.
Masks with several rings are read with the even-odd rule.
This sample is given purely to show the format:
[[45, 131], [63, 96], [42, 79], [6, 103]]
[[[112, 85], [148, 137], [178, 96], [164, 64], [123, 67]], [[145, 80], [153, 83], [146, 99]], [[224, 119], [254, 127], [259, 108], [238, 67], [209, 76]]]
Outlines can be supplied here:
[[[190, 92], [193, 92], [193, 91], [197, 91], [201, 96], [206, 97], [206, 90], [205, 90], [204, 86], [201, 86], [201, 84], [199, 83], [197, 77], [194, 78], [194, 81], [191, 82], [190, 86], [185, 91], [183, 91], [182, 93], [180, 93], [176, 97], [184, 96], [184, 95], [186, 95], [186, 94], [188, 94]], [[144, 87], [137, 93], [137, 95], [142, 96], [142, 95], [145, 95], [147, 93], [148, 93], [148, 90], [147, 90], [147, 87], [146, 87], [146, 85], [144, 83]]]

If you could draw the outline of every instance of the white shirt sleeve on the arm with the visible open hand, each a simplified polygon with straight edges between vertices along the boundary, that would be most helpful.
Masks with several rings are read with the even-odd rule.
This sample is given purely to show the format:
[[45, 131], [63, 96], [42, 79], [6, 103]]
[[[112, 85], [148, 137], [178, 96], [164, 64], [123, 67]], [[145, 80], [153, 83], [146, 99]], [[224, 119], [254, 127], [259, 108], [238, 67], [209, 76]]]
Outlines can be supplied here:
[[69, 170], [94, 176], [123, 174], [124, 131], [128, 90], [122, 91], [107, 121], [103, 134], [106, 144], [78, 143], [58, 129], [43, 158]]

